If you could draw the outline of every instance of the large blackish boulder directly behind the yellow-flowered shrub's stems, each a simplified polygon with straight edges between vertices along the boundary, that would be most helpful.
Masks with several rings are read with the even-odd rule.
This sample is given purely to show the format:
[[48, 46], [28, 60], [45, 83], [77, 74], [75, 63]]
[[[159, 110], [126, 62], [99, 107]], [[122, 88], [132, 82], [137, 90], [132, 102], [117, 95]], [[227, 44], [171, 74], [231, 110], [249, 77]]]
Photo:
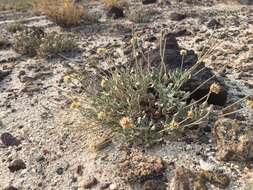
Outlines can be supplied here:
[[[165, 51], [164, 51], [164, 63], [166, 65], [167, 71], [171, 72], [175, 69], [181, 68], [182, 60], [183, 60], [183, 69], [187, 70], [194, 66], [198, 61], [198, 56], [195, 54], [193, 50], [186, 50], [186, 55], [182, 57], [180, 51], [182, 50], [176, 40], [174, 34], [167, 34], [165, 36], [166, 44], [165, 44]], [[163, 41], [164, 43], [164, 41]], [[149, 52], [150, 63], [153, 66], [158, 66], [161, 64], [161, 56], [160, 56], [160, 44], [158, 47]], [[194, 73], [201, 70], [198, 74], [194, 75]], [[204, 63], [199, 64], [199, 66], [193, 72], [193, 75], [190, 80], [182, 87], [182, 90], [193, 92], [196, 88], [202, 85], [198, 90], [196, 90], [189, 98], [198, 100], [205, 96], [209, 92], [209, 88], [213, 83], [219, 83], [217, 77], [213, 77], [215, 74], [212, 72], [211, 69], [205, 68]], [[213, 77], [211, 80], [211, 77]], [[206, 82], [208, 80], [208, 82]], [[221, 85], [221, 91], [218, 94], [212, 93], [208, 99], [209, 104], [214, 105], [225, 105], [227, 101], [227, 89], [224, 85]]]

